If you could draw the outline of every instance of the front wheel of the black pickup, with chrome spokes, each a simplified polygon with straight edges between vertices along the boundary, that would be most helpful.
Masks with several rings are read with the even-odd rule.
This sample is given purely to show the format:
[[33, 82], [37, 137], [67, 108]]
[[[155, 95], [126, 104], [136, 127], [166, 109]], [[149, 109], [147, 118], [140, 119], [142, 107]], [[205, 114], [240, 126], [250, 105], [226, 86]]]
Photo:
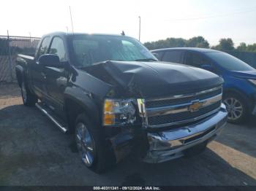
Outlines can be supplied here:
[[116, 157], [105, 141], [102, 129], [93, 125], [85, 113], [79, 114], [75, 120], [75, 142], [83, 163], [91, 171], [100, 174], [116, 164]]

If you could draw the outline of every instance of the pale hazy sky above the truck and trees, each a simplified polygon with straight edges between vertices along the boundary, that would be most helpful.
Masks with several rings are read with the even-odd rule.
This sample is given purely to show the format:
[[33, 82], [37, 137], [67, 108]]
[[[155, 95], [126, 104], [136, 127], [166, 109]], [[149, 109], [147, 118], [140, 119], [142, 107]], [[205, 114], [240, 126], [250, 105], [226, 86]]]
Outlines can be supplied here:
[[255, 0], [22, 0], [1, 1], [0, 35], [42, 36], [52, 31], [120, 34], [141, 41], [204, 36], [211, 45], [220, 38], [256, 43]]

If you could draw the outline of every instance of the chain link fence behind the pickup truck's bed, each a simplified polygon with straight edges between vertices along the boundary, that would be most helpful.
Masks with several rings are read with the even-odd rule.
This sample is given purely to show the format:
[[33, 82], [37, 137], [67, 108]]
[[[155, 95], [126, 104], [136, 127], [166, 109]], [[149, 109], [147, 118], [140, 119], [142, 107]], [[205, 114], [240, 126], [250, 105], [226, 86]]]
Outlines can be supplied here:
[[0, 83], [16, 81], [17, 55], [34, 55], [39, 39], [28, 36], [0, 36]]

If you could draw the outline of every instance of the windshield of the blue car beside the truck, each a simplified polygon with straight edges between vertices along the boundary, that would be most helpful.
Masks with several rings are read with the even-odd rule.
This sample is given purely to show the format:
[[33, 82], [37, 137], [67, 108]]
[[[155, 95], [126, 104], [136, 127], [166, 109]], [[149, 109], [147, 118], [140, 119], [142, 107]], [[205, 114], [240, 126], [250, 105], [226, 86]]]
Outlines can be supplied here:
[[239, 60], [233, 55], [229, 55], [225, 52], [206, 52], [206, 55], [216, 61], [220, 66], [229, 71], [250, 71], [255, 70], [247, 63]]

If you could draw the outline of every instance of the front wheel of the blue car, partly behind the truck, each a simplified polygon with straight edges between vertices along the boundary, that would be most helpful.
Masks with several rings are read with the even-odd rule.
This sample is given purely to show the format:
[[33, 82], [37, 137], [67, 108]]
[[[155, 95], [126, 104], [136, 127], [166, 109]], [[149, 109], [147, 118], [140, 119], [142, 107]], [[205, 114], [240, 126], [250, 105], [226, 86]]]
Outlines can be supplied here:
[[241, 95], [227, 93], [223, 98], [223, 104], [227, 107], [227, 122], [239, 124], [246, 120], [249, 114], [249, 106]]

